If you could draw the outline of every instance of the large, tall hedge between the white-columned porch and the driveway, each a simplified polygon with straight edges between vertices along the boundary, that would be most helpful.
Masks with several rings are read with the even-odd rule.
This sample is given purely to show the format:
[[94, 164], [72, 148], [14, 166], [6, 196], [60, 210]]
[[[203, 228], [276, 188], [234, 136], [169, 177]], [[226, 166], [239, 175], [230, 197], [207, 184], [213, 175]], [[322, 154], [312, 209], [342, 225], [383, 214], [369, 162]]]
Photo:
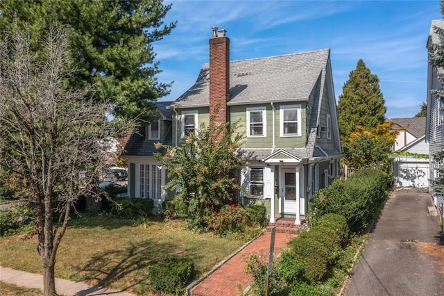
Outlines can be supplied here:
[[336, 179], [332, 185], [318, 190], [311, 204], [311, 225], [327, 213], [347, 218], [353, 233], [364, 231], [368, 222], [379, 215], [388, 196], [390, 178], [380, 170], [361, 170], [348, 179]]

